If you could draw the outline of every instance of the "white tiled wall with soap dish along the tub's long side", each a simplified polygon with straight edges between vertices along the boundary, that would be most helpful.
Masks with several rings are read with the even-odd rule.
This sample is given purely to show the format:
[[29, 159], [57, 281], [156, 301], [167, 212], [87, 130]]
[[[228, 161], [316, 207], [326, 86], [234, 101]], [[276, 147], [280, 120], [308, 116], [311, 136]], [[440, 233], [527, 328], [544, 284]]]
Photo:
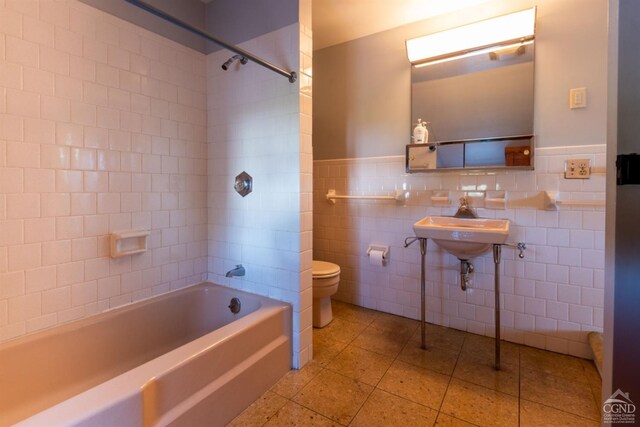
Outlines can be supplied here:
[[74, 0], [0, 32], [0, 341], [205, 279], [205, 56]]

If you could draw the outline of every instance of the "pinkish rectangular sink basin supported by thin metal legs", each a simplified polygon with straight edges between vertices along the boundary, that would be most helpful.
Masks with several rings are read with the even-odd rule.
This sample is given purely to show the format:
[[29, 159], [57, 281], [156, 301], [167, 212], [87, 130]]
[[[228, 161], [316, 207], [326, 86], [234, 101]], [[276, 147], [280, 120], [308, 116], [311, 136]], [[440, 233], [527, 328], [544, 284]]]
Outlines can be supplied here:
[[413, 224], [417, 237], [431, 239], [461, 260], [489, 251], [494, 243], [504, 243], [509, 235], [508, 219], [426, 216]]

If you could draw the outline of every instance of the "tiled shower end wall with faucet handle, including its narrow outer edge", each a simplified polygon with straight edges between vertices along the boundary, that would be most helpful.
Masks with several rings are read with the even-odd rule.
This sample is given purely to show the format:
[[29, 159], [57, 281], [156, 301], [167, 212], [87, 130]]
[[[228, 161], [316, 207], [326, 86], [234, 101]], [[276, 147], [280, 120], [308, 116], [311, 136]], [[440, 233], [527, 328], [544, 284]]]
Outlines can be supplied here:
[[[297, 70], [295, 84], [251, 62], [223, 71], [227, 51], [207, 56], [209, 279], [293, 304], [296, 367], [312, 355], [310, 10], [240, 45]], [[254, 180], [244, 198], [233, 189], [243, 171]], [[236, 264], [246, 276], [226, 278]]]

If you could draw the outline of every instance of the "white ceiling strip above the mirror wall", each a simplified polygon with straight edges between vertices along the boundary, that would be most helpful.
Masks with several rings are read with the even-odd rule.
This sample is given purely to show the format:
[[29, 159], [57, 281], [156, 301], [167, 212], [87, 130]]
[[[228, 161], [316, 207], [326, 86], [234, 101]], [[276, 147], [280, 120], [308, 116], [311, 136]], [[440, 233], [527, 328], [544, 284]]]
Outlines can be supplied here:
[[488, 0], [312, 0], [313, 48], [322, 49]]

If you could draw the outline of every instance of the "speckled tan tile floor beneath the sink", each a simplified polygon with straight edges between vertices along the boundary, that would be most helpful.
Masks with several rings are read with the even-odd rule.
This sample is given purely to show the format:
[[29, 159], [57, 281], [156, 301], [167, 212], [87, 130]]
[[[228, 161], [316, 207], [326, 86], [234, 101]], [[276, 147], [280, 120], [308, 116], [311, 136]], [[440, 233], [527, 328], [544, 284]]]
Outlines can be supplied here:
[[230, 426], [598, 426], [590, 360], [502, 344], [341, 302], [314, 329], [314, 360], [287, 373]]

